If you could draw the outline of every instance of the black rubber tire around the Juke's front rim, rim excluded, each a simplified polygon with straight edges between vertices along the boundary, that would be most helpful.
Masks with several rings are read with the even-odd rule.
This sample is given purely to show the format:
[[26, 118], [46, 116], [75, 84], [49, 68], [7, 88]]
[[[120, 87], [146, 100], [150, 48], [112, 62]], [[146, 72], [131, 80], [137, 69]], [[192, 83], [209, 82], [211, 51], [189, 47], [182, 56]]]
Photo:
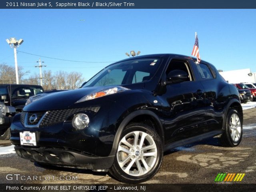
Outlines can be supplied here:
[[112, 170], [113, 170], [112, 176], [126, 183], [140, 183], [152, 178], [158, 172], [162, 164], [162, 158], [163, 158], [162, 140], [155, 130], [153, 130], [150, 126], [147, 126], [144, 124], [132, 124], [122, 132], [120, 139], [122, 139], [126, 134], [133, 131], [143, 131], [149, 134], [150, 136], [152, 136], [152, 138], [154, 139], [154, 142], [156, 143], [157, 159], [156, 159], [156, 163], [154, 164], [154, 167], [148, 173], [144, 174], [143, 176], [130, 176], [120, 168], [118, 164], [117, 156], [116, 156], [114, 160], [114, 164], [112, 166]]

